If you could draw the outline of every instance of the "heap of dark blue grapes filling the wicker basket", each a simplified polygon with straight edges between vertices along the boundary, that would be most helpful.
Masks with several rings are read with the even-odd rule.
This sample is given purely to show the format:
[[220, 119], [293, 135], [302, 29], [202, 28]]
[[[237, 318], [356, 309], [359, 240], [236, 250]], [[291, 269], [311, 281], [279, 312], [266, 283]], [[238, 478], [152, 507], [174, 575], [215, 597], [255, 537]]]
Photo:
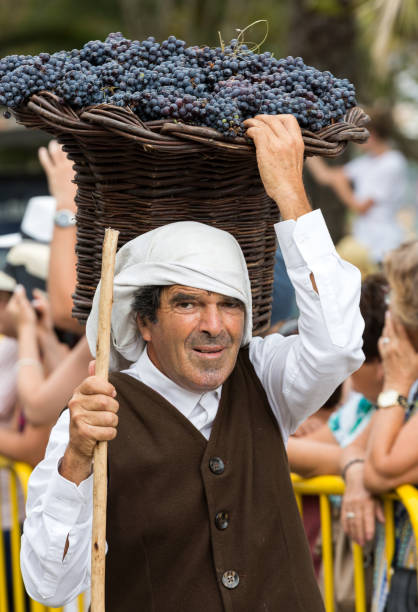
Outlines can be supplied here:
[[276, 59], [232, 40], [223, 48], [187, 47], [175, 36], [128, 40], [120, 32], [81, 50], [0, 60], [0, 105], [17, 109], [43, 90], [79, 109], [130, 107], [143, 120], [171, 118], [244, 134], [259, 113], [290, 113], [318, 131], [356, 104], [354, 86], [300, 57]]

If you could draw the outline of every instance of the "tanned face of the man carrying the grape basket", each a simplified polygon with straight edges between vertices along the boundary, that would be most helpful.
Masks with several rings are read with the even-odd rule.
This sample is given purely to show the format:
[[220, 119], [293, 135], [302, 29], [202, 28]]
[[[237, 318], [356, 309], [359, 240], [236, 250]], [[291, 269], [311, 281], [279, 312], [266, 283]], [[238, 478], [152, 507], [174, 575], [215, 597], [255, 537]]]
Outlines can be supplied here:
[[153, 364], [181, 387], [209, 391], [232, 372], [244, 333], [242, 302], [171, 285], [161, 292], [156, 323], [140, 321]]

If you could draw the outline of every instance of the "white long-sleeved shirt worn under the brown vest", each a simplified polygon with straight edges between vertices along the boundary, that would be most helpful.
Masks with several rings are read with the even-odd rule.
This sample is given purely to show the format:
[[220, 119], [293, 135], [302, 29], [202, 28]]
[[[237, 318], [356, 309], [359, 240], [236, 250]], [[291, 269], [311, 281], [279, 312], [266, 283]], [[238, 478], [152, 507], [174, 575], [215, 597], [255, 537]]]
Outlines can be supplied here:
[[[319, 210], [275, 226], [296, 290], [299, 335], [253, 338], [249, 356], [284, 441], [363, 362], [360, 273], [336, 253]], [[319, 295], [313, 290], [315, 276]], [[220, 389], [193, 393], [167, 379], [142, 354], [128, 371], [161, 393], [209, 437]], [[78, 487], [58, 472], [68, 443], [65, 411], [51, 432], [45, 459], [29, 482], [21, 568], [28, 593], [60, 606], [90, 584], [92, 477]], [[62, 560], [65, 542], [69, 549]]]

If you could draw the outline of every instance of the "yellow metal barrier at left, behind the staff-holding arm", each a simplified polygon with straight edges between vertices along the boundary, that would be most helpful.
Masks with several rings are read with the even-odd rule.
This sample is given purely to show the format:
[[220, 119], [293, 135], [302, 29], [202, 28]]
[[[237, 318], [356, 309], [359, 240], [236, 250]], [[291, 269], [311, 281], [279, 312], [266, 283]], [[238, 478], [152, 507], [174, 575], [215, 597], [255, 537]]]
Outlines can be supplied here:
[[[30, 612], [63, 612], [64, 608], [48, 608], [42, 604], [25, 597], [22, 574], [20, 572], [20, 536], [21, 526], [19, 524], [19, 492], [20, 486], [23, 491], [24, 499], [27, 498], [28, 481], [31, 474], [31, 467], [25, 463], [14, 463], [0, 457], [0, 470], [6, 470], [10, 475], [9, 498], [10, 511], [12, 517], [12, 526], [10, 530], [10, 562], [12, 573], [12, 590], [13, 590], [13, 610], [9, 606], [7, 595], [7, 580], [6, 580], [6, 558], [4, 547], [4, 536], [1, 525], [1, 509], [0, 509], [0, 612], [26, 612], [26, 599], [29, 601]], [[2, 501], [0, 499], [0, 501]], [[77, 599], [78, 612], [85, 612], [84, 596], [80, 595]]]

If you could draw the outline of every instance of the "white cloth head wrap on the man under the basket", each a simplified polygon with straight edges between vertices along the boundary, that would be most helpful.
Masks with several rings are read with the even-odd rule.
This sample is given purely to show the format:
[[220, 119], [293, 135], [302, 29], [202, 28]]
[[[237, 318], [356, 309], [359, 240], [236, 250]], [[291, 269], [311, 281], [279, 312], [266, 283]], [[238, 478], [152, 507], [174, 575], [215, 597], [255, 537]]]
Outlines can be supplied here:
[[[171, 223], [127, 242], [116, 255], [111, 371], [136, 361], [143, 351], [145, 344], [138, 332], [132, 304], [138, 288], [147, 285], [184, 285], [241, 300], [245, 306], [242, 345], [250, 341], [251, 286], [238, 242], [228, 232], [203, 223]], [[93, 355], [96, 354], [99, 294], [100, 283], [86, 327]]]

